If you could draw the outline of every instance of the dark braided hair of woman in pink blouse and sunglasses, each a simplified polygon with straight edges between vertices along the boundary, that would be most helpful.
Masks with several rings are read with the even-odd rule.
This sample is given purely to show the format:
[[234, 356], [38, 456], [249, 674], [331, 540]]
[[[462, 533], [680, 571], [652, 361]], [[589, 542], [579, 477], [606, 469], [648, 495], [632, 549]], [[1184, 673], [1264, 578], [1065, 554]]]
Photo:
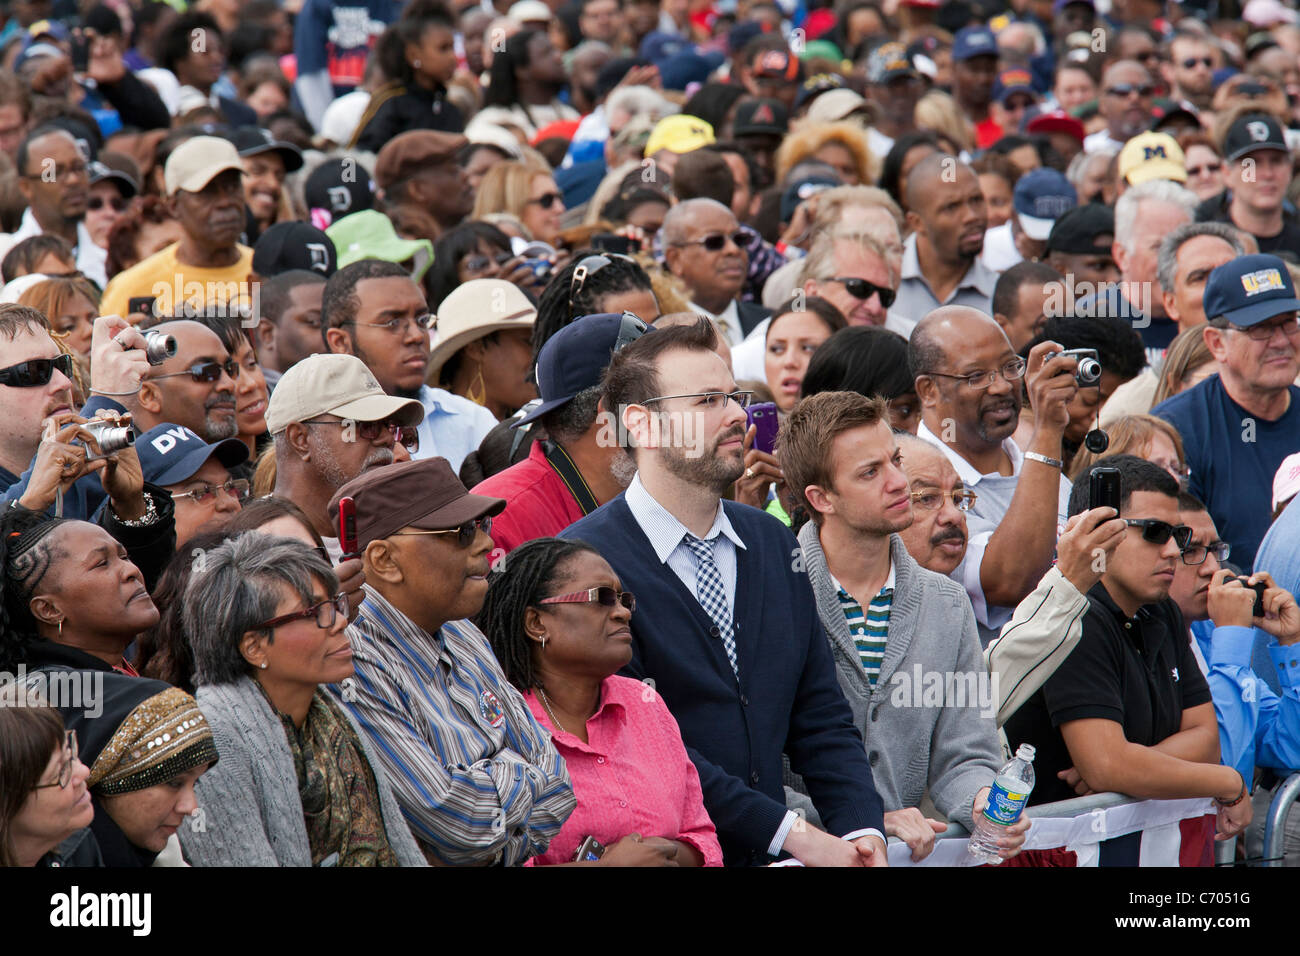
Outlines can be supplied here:
[[491, 644], [506, 679], [520, 692], [541, 687], [533, 666], [533, 641], [524, 632], [524, 615], [554, 592], [560, 566], [588, 551], [597, 553], [582, 541], [540, 537], [507, 554], [488, 579], [488, 597], [474, 623]]

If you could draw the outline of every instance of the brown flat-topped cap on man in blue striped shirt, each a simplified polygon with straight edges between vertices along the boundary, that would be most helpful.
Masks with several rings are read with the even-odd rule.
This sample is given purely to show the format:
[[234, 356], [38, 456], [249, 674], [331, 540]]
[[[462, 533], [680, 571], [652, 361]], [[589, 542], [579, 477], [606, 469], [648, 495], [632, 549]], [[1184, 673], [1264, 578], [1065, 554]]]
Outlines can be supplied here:
[[335, 525], [339, 498], [347, 497], [356, 505], [360, 550], [402, 528], [450, 531], [506, 509], [502, 498], [467, 492], [446, 458], [398, 462], [363, 472], [330, 498], [329, 518]]

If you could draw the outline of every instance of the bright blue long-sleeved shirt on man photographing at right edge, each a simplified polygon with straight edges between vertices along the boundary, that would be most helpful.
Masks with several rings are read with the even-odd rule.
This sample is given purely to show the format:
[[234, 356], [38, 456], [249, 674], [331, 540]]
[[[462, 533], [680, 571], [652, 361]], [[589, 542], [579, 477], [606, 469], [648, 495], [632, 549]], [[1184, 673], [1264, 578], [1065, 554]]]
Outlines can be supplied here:
[[[1202, 622], [1197, 622], [1202, 623]], [[1210, 624], [1210, 622], [1204, 622]], [[1192, 627], [1209, 665], [1206, 680], [1219, 727], [1219, 756], [1249, 780], [1254, 767], [1300, 770], [1300, 645], [1269, 643], [1282, 693], [1274, 693], [1251, 669], [1253, 627]]]

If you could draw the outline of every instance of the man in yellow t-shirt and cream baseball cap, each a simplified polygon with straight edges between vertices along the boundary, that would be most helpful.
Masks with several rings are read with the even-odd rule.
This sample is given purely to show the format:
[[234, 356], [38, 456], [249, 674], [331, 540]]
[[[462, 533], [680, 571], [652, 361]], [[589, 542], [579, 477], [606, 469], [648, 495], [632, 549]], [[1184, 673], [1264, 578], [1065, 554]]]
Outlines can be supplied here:
[[181, 315], [183, 303], [231, 310], [247, 304], [252, 250], [239, 243], [243, 161], [234, 143], [192, 137], [172, 151], [162, 178], [169, 211], [185, 235], [113, 276], [100, 313], [125, 316], [129, 300], [142, 295], [159, 299], [155, 315]]

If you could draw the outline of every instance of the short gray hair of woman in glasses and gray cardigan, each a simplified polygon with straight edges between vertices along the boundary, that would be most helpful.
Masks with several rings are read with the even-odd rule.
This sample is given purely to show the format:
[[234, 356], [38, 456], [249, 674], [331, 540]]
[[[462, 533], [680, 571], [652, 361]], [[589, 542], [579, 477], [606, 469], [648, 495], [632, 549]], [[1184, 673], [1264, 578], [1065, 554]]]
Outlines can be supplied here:
[[334, 570], [309, 545], [291, 537], [246, 531], [218, 548], [195, 555], [199, 563], [185, 589], [181, 619], [194, 649], [194, 683], [231, 684], [252, 672], [239, 643], [244, 633], [276, 617], [289, 588], [315, 604], [312, 581], [338, 591]]

